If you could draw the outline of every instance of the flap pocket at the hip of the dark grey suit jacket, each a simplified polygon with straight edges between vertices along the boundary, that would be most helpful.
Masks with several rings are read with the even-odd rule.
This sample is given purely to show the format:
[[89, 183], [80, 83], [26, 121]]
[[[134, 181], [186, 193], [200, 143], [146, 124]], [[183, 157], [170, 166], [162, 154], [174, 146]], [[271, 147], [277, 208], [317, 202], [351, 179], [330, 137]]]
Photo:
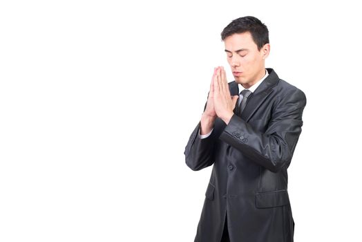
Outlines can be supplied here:
[[256, 193], [257, 208], [279, 207], [287, 204], [289, 204], [287, 190]]

